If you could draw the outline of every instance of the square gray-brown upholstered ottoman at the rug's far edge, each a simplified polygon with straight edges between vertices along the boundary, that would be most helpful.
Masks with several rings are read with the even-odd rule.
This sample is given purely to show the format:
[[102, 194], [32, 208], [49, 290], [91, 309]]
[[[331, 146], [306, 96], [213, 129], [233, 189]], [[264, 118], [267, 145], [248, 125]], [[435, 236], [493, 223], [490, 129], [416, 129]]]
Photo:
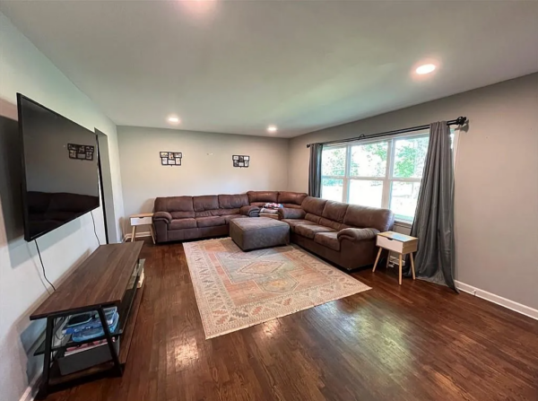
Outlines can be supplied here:
[[268, 217], [230, 220], [230, 237], [243, 250], [290, 243], [290, 226]]

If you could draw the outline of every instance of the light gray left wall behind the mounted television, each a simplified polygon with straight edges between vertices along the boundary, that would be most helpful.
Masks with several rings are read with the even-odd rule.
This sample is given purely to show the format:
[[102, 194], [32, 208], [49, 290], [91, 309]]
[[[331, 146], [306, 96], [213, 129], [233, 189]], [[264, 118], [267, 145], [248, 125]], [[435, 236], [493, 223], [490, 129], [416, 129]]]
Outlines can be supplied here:
[[[22, 92], [93, 131], [108, 135], [113, 187], [119, 187], [116, 126], [0, 13], [0, 399], [18, 400], [38, 377], [42, 359], [33, 356], [44, 322], [30, 313], [47, 296], [34, 243], [23, 240], [21, 158], [16, 93]], [[114, 191], [117, 215], [121, 193]], [[94, 210], [104, 242], [102, 214]], [[59, 283], [95, 248], [90, 214], [39, 238], [48, 279]]]

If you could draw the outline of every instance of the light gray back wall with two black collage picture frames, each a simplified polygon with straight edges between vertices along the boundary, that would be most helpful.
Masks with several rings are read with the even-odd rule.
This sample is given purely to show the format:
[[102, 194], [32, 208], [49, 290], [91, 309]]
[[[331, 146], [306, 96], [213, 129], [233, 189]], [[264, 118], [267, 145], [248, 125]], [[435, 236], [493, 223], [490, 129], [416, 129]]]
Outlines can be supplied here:
[[[127, 230], [129, 214], [151, 212], [157, 196], [288, 186], [287, 139], [134, 126], [118, 126], [117, 135]], [[165, 151], [183, 153], [182, 165], [161, 166], [159, 153]], [[250, 156], [250, 166], [234, 168], [233, 154]]]

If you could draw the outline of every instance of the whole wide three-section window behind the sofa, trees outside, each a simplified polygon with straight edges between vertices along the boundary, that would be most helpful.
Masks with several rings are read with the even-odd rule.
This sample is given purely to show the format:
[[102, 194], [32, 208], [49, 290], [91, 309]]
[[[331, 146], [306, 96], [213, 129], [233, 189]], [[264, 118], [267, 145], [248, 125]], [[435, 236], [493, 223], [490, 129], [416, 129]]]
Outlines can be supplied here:
[[395, 136], [376, 142], [325, 146], [321, 197], [386, 207], [396, 220], [414, 218], [430, 136]]

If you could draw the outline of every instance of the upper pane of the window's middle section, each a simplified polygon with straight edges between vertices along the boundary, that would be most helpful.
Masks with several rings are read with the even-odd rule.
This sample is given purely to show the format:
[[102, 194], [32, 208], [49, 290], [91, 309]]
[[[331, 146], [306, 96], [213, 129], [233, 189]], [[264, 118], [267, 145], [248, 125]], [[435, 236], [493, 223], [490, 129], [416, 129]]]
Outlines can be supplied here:
[[387, 142], [351, 146], [351, 176], [385, 177]]

